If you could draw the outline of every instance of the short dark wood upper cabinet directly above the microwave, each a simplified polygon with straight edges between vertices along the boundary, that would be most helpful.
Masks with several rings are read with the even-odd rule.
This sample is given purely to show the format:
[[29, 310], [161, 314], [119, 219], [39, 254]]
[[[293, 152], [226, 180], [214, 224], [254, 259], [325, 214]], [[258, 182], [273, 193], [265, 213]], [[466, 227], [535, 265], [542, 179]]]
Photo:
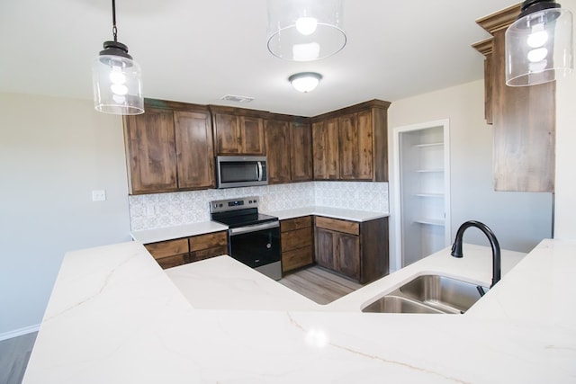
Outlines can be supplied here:
[[211, 106], [216, 155], [265, 154], [264, 119], [266, 112]]

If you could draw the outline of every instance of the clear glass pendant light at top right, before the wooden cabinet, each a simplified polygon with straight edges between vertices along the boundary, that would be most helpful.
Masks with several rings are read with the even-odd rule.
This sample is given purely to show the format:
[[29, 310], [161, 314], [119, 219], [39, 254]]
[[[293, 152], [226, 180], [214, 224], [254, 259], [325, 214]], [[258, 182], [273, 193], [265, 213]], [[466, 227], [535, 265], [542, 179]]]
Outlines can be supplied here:
[[505, 39], [507, 85], [537, 85], [572, 72], [572, 13], [554, 0], [525, 1]]

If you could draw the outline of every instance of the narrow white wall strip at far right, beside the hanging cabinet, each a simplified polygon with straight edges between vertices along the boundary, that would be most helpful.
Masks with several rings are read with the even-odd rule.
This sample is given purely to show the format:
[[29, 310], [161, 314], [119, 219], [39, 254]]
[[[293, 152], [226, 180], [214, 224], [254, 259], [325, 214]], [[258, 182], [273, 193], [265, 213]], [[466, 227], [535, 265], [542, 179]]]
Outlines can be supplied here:
[[[576, 15], [576, 0], [563, 0]], [[574, 40], [576, 41], [576, 29]], [[556, 199], [554, 238], [576, 240], [576, 71], [556, 81]]]

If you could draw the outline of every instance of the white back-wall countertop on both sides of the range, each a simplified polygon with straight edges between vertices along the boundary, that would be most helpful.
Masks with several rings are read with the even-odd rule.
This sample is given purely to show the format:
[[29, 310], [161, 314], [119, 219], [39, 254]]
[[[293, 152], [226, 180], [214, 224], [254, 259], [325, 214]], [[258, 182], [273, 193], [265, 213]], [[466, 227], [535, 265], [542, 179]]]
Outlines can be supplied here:
[[[298, 208], [294, 210], [262, 211], [262, 213], [275, 216], [281, 220], [299, 218], [302, 216], [319, 215], [334, 219], [346, 219], [360, 222], [389, 216], [389, 214], [385, 212], [344, 210], [341, 208], [315, 206]], [[214, 221], [202, 221], [199, 223], [185, 224], [183, 226], [132, 231], [131, 237], [142, 244], [149, 244], [156, 243], [157, 241], [203, 235], [221, 230], [228, 230], [228, 226]]]

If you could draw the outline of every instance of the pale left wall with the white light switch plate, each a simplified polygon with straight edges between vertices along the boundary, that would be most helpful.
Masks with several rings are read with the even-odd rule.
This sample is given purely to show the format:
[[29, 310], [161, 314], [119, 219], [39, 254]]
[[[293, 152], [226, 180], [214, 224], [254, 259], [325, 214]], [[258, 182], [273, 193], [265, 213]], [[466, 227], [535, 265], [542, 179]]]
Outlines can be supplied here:
[[121, 118], [0, 94], [0, 175], [2, 336], [40, 323], [67, 251], [130, 240]]

